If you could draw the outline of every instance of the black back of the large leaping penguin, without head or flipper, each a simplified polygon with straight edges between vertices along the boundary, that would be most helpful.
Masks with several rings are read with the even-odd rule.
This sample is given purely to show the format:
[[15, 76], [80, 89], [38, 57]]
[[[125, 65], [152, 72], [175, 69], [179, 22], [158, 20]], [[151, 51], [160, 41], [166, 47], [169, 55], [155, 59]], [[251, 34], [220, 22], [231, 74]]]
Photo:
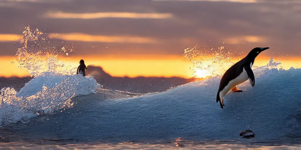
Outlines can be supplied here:
[[[233, 64], [222, 76], [221, 82], [219, 83], [219, 91], [222, 91], [222, 89], [225, 88], [225, 86], [228, 85], [228, 83], [235, 79], [237, 76], [242, 73], [244, 66], [248, 63], [249, 61], [247, 60], [247, 57], [241, 59], [237, 63]], [[251, 63], [252, 61], [250, 61]], [[250, 65], [250, 64], [248, 64]]]

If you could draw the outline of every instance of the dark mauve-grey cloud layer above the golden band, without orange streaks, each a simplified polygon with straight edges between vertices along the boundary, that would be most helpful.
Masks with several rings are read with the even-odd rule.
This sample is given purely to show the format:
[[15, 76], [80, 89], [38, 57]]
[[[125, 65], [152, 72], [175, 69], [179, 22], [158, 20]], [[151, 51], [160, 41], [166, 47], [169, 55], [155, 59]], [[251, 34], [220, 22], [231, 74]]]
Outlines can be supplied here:
[[[48, 18], [46, 13], [170, 13], [166, 19]], [[271, 47], [266, 55], [300, 56], [301, 3], [294, 0], [229, 1], [152, 0], [0, 0], [0, 34], [21, 34], [25, 26], [45, 27], [52, 33], [154, 38], [158, 43], [80, 42], [74, 54], [175, 54], [194, 44], [225, 42], [237, 52]], [[248, 37], [257, 37], [250, 39]], [[236, 40], [236, 41], [235, 41]], [[231, 42], [229, 42], [231, 41]], [[228, 43], [227, 43], [228, 42]], [[0, 42], [2, 55], [14, 55], [12, 42]], [[96, 46], [96, 48], [92, 48]], [[108, 47], [108, 49], [106, 48]]]

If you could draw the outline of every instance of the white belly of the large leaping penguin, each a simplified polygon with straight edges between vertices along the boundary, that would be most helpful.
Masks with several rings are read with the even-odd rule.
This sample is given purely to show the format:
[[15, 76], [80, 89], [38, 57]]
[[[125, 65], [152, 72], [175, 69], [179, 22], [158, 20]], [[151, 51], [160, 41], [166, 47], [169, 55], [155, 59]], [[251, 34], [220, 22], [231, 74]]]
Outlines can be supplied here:
[[237, 76], [235, 79], [231, 80], [227, 86], [225, 86], [225, 88], [220, 91], [219, 93], [219, 97], [222, 99], [224, 99], [224, 96], [228, 93], [228, 91], [230, 91], [232, 88], [234, 88], [236, 85], [240, 85], [241, 83], [244, 83], [245, 81], [247, 81], [248, 75], [247, 72], [243, 69], [242, 73], [240, 73], [239, 76]]

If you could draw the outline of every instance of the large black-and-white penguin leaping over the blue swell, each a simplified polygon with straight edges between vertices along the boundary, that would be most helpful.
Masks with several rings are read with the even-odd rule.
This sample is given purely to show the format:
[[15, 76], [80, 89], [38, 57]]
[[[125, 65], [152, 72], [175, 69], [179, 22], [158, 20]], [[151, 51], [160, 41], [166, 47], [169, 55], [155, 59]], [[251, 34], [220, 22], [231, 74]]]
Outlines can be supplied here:
[[224, 73], [219, 83], [219, 90], [216, 95], [216, 103], [219, 102], [222, 108], [225, 106], [223, 101], [224, 96], [228, 93], [228, 91], [232, 90], [233, 92], [242, 92], [242, 90], [239, 90], [236, 85], [240, 85], [248, 79], [252, 87], [255, 85], [255, 77], [251, 68], [258, 54], [266, 49], [269, 49], [269, 47], [256, 47], [252, 49], [245, 58], [233, 64]]

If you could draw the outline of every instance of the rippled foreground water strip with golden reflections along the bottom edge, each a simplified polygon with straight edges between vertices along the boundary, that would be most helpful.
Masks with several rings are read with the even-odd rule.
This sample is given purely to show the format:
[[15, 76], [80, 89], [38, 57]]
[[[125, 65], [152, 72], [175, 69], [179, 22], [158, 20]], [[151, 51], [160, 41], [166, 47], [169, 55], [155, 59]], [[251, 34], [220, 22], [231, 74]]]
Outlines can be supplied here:
[[[3, 137], [0, 137], [2, 139]], [[107, 143], [106, 140], [101, 142], [82, 143], [75, 139], [57, 140], [44, 139], [36, 141], [19, 141], [19, 142], [3, 142], [0, 143], [0, 149], [231, 149], [231, 150], [284, 150], [284, 149], [301, 149], [299, 138], [294, 141], [269, 141], [269, 142], [255, 142], [253, 139], [242, 139], [242, 141], [235, 140], [204, 140], [204, 141], [186, 141], [177, 138], [175, 140], [152, 140], [152, 141], [129, 141], [122, 143]], [[247, 142], [246, 142], [247, 140]], [[252, 142], [253, 141], [253, 142]]]

